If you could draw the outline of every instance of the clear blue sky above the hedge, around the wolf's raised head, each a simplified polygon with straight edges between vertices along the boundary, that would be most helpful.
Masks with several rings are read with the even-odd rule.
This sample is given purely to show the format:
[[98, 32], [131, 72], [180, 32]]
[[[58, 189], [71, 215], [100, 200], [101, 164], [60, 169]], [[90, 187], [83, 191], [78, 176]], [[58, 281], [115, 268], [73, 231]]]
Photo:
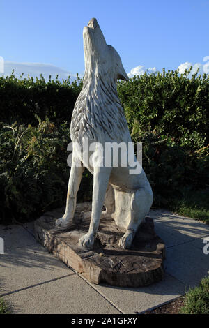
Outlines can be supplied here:
[[82, 30], [92, 17], [130, 76], [209, 68], [209, 0], [0, 0], [0, 17], [5, 74], [83, 74]]

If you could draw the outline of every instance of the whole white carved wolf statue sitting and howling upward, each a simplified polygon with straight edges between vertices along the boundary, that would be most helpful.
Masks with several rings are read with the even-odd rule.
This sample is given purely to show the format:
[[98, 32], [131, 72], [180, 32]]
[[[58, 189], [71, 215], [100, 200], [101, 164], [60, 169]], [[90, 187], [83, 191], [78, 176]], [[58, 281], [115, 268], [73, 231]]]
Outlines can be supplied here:
[[[116, 82], [128, 80], [118, 53], [107, 45], [100, 26], [95, 18], [84, 27], [84, 84], [72, 113], [70, 136], [82, 144], [88, 137], [89, 144], [98, 142], [104, 146], [107, 142], [131, 142], [127, 121], [118, 99]], [[95, 147], [97, 154], [97, 147]], [[91, 152], [89, 153], [91, 154]], [[101, 153], [98, 152], [101, 157]], [[105, 157], [105, 154], [102, 154]], [[121, 150], [121, 157], [127, 157], [127, 150]], [[68, 228], [76, 207], [76, 196], [82, 179], [84, 167], [93, 174], [93, 201], [91, 223], [88, 233], [79, 239], [81, 246], [91, 248], [98, 232], [101, 215], [111, 216], [116, 224], [125, 230], [119, 241], [119, 247], [130, 248], [139, 224], [148, 214], [153, 203], [153, 192], [144, 170], [137, 162], [138, 174], [130, 174], [130, 165], [91, 165], [85, 156], [73, 146], [72, 167], [68, 183], [68, 195], [65, 214], [56, 220], [56, 225]], [[104, 158], [103, 158], [104, 159]], [[79, 165], [82, 161], [82, 165]], [[128, 161], [127, 161], [128, 162]], [[102, 207], [106, 208], [102, 212]]]

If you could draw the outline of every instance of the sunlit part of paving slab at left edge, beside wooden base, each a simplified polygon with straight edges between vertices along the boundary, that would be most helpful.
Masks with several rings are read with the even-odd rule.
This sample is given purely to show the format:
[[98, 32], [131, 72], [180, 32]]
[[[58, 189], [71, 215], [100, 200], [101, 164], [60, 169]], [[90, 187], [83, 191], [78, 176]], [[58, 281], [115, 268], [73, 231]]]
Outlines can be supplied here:
[[36, 243], [0, 255], [0, 295], [73, 272]]

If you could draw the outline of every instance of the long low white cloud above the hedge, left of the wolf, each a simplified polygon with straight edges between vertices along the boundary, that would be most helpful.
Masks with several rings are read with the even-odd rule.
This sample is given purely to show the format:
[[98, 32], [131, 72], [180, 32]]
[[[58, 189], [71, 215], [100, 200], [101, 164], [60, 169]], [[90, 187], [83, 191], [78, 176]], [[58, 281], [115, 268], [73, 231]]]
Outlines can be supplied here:
[[[3, 75], [7, 76], [15, 70], [14, 74], [16, 77], [20, 77], [24, 73], [23, 77], [30, 75], [31, 77], [40, 77], [42, 74], [45, 80], [49, 80], [49, 75], [55, 80], [56, 75], [59, 75], [59, 80], [66, 79], [70, 75], [70, 80], [75, 80], [76, 75], [70, 73], [68, 70], [54, 66], [52, 64], [41, 64], [41, 63], [16, 63], [13, 61], [4, 61]], [[1, 74], [2, 75], [2, 74]], [[82, 76], [82, 75], [81, 75]]]

